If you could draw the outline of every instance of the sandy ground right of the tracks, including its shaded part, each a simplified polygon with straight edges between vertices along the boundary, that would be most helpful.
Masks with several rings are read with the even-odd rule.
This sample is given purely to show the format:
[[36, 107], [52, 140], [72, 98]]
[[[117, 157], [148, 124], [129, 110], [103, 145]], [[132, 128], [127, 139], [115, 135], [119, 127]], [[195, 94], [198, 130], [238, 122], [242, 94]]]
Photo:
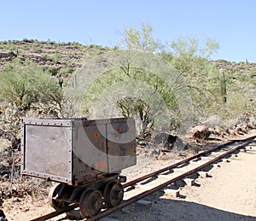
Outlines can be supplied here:
[[[252, 149], [250, 149], [252, 148]], [[195, 186], [173, 198], [166, 189], [145, 200], [152, 206], [131, 205], [111, 217], [120, 220], [256, 220], [256, 143], [247, 152], [223, 160], [199, 177]]]

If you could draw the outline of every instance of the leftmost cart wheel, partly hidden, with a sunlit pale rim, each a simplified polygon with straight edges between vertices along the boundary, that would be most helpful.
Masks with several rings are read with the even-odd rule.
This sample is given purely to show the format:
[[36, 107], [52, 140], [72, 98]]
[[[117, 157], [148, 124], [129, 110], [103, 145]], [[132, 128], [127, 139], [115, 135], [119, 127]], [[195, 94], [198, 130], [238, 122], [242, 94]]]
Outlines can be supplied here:
[[58, 197], [61, 189], [61, 183], [55, 183], [55, 185], [49, 190], [49, 205], [54, 207], [56, 211], [59, 211], [69, 204], [64, 201], [58, 201], [55, 198]]

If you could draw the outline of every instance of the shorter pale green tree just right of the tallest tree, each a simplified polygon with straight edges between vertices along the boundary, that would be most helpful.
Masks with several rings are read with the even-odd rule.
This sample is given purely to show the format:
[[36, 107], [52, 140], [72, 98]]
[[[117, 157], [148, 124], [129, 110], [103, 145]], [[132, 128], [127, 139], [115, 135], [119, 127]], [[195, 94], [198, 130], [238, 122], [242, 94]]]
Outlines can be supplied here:
[[[211, 56], [218, 50], [218, 43], [207, 38], [177, 38], [172, 41], [168, 52], [162, 55], [183, 75], [195, 113], [204, 117], [222, 104], [218, 70], [210, 63]], [[207, 115], [206, 115], [207, 116]]]

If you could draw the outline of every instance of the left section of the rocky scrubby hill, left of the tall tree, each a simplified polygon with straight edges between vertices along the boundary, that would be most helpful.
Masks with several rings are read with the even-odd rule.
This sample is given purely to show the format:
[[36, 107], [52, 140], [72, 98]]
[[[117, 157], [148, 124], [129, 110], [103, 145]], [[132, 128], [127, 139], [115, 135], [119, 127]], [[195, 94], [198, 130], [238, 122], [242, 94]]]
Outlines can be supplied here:
[[65, 78], [80, 67], [86, 57], [107, 49], [97, 45], [84, 46], [79, 43], [55, 43], [28, 39], [2, 41], [0, 42], [0, 68], [18, 58], [23, 62], [37, 63], [52, 75], [61, 75]]

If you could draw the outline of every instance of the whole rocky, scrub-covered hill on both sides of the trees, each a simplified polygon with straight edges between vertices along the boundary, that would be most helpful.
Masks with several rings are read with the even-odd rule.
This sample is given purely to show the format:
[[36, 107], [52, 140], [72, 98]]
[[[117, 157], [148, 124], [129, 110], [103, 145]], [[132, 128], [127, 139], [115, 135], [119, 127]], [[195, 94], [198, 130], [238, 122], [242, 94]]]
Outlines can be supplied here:
[[[99, 55], [108, 50], [110, 49], [100, 45], [83, 45], [75, 42], [56, 43], [35, 39], [2, 41], [0, 42], [0, 70], [5, 64], [17, 58], [23, 63], [31, 61], [43, 67], [44, 71], [55, 78], [61, 78], [61, 82], [65, 83], [68, 77], [85, 61], [89, 61], [92, 55]], [[225, 73], [228, 83], [227, 90], [229, 94], [234, 95], [233, 100], [246, 98], [251, 102], [250, 105], [256, 103], [254, 96], [256, 92], [256, 63], [224, 60], [209, 62], [214, 68], [222, 69]], [[242, 96], [236, 98], [237, 95]]]

